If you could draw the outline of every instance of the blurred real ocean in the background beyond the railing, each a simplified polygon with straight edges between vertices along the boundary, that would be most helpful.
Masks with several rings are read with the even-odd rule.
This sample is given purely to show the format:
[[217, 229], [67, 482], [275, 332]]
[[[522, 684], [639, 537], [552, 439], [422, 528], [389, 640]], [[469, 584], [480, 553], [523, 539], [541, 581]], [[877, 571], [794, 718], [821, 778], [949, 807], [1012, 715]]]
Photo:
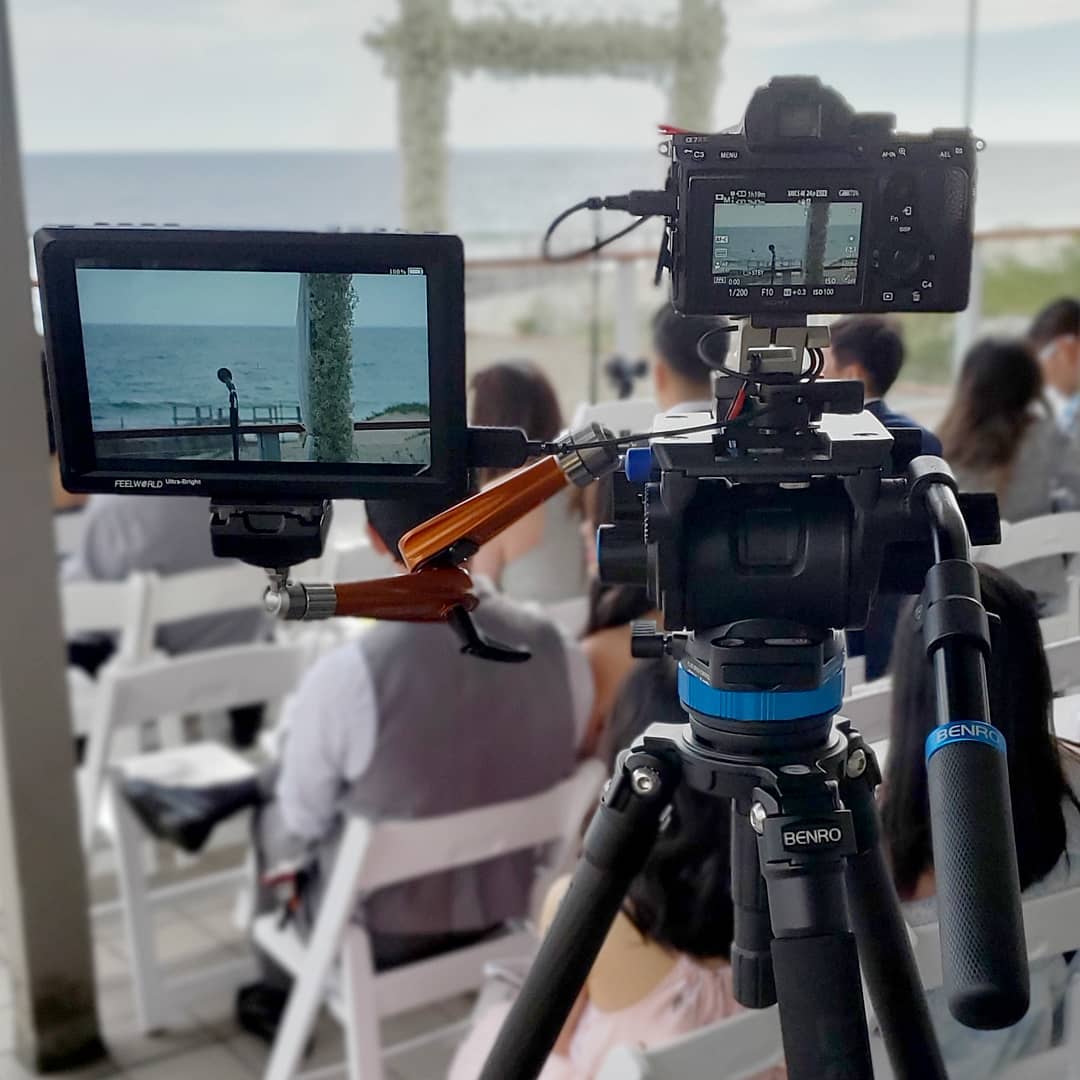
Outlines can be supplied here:
[[[656, 186], [664, 167], [649, 146], [456, 150], [449, 228], [473, 256], [532, 255], [564, 207], [585, 195]], [[978, 229], [1080, 225], [1080, 144], [991, 144], [978, 157]], [[29, 153], [24, 173], [31, 231], [95, 221], [299, 229], [403, 224], [401, 166], [392, 150]]]

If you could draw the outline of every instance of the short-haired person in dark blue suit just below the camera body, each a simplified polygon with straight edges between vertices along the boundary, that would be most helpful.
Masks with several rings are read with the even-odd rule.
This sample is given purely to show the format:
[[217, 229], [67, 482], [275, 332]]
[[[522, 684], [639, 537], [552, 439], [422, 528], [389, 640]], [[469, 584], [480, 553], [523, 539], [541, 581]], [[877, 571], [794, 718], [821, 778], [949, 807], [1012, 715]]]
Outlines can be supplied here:
[[909, 416], [885, 402], [904, 366], [904, 339], [881, 315], [852, 315], [829, 326], [832, 345], [825, 350], [826, 379], [858, 379], [866, 388], [866, 410], [886, 428], [916, 428], [922, 436], [922, 453], [941, 457], [937, 436]]

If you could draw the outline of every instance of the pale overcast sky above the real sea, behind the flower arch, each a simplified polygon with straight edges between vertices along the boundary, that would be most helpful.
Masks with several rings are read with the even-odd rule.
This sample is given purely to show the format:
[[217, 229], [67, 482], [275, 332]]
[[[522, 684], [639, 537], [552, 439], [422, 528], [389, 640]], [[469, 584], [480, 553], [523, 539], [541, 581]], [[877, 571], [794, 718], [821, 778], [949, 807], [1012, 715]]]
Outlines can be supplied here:
[[[535, 16], [675, 0], [514, 0]], [[968, 0], [727, 0], [716, 126], [769, 76], [821, 75], [907, 130], [961, 119]], [[468, 17], [495, 0], [455, 0]], [[395, 144], [393, 82], [364, 43], [393, 0], [9, 0], [26, 150]], [[981, 0], [976, 132], [1080, 139], [1080, 0]], [[456, 78], [455, 146], [634, 146], [665, 94], [615, 79]]]

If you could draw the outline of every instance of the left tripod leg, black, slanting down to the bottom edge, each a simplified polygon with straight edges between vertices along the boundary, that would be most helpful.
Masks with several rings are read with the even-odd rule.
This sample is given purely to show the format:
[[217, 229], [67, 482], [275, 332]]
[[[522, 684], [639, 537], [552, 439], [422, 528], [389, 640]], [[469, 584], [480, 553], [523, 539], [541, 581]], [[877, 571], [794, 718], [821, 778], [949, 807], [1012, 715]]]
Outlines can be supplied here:
[[543, 1068], [626, 889], [648, 858], [678, 775], [677, 762], [660, 754], [620, 758], [585, 833], [570, 888], [481, 1080], [534, 1080]]

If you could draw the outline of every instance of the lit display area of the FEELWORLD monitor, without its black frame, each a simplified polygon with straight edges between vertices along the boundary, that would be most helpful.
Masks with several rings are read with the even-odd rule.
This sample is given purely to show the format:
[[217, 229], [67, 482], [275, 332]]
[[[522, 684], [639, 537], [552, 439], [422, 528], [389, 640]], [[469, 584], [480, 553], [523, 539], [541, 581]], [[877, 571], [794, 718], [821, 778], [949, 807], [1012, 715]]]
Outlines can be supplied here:
[[430, 464], [420, 268], [76, 276], [99, 458]]

